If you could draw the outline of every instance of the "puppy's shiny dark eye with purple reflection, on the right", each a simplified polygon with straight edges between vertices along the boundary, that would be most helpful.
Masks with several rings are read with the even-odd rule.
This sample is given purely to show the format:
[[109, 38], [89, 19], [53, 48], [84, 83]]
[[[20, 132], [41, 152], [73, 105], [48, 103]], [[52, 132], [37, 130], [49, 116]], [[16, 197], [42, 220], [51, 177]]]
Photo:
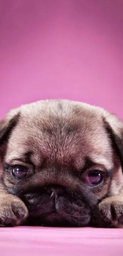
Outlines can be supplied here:
[[89, 171], [85, 176], [89, 186], [96, 186], [103, 180], [103, 175], [98, 170]]

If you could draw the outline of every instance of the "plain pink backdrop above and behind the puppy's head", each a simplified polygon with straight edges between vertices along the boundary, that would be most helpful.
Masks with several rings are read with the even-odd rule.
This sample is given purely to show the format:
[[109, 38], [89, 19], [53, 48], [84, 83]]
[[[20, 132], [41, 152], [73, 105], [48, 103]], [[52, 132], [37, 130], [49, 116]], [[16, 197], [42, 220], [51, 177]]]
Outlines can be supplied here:
[[123, 117], [123, 0], [0, 0], [0, 117], [46, 98]]

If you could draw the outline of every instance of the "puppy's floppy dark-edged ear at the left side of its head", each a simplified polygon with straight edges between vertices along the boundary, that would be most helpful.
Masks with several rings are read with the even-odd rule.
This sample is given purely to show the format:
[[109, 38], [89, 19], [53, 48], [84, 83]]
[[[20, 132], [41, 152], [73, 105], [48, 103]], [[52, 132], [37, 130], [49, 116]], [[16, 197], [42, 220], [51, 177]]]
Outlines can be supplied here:
[[8, 140], [11, 131], [16, 126], [16, 123], [19, 119], [19, 110], [12, 109], [10, 112], [5, 116], [4, 119], [0, 120], [0, 158], [3, 152], [3, 144], [5, 141]]

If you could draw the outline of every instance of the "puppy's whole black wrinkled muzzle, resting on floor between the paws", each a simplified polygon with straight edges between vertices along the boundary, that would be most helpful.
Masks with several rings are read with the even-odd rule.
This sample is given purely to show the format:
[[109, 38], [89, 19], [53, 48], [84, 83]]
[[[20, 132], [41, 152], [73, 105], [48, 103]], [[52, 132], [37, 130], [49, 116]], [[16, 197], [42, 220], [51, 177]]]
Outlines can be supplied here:
[[88, 226], [96, 200], [89, 203], [75, 192], [62, 196], [49, 196], [46, 193], [27, 193], [21, 196], [28, 207], [28, 225], [83, 227]]

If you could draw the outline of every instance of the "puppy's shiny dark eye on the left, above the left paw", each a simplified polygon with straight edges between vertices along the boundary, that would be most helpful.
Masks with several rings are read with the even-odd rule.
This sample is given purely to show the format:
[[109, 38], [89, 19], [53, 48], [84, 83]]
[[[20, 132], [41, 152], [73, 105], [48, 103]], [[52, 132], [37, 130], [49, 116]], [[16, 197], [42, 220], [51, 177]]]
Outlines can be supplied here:
[[23, 179], [27, 176], [27, 167], [21, 165], [13, 166], [12, 174], [17, 179]]

